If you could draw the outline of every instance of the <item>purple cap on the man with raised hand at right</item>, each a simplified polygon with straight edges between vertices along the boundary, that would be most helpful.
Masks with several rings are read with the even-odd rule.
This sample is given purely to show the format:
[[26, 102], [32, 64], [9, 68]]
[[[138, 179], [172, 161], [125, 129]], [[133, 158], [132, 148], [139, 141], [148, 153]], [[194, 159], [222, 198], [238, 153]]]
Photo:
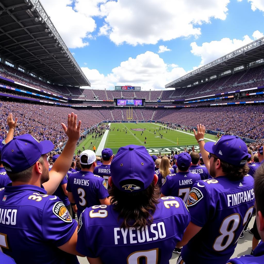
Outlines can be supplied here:
[[244, 166], [251, 157], [246, 143], [238, 136], [223, 135], [215, 143], [206, 142], [204, 149], [235, 166]]

